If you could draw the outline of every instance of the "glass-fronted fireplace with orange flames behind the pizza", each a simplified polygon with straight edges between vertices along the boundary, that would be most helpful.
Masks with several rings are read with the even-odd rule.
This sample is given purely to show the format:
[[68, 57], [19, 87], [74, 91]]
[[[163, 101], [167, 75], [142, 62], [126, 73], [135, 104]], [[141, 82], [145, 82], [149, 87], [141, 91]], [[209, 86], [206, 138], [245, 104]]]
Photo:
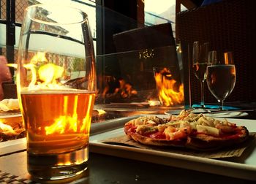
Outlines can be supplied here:
[[182, 107], [181, 75], [174, 46], [98, 55], [96, 104], [127, 109]]

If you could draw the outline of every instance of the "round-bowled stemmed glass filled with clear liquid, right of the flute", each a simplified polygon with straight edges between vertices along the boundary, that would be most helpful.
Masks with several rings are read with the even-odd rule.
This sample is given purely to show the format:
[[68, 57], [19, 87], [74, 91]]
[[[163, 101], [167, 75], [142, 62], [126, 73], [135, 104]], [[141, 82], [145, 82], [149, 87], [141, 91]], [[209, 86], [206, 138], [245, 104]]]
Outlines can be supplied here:
[[223, 103], [236, 85], [236, 66], [233, 62], [232, 52], [208, 53], [208, 61], [211, 66], [206, 69], [206, 82], [211, 94], [219, 102], [219, 110], [223, 110]]

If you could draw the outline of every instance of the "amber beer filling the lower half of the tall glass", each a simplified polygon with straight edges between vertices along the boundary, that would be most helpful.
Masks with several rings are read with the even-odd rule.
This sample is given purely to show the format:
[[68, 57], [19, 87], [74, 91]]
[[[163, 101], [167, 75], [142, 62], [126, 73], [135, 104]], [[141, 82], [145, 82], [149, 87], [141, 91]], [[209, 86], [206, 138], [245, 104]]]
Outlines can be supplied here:
[[47, 90], [22, 91], [20, 95], [29, 173], [45, 172], [52, 178], [54, 172], [75, 173], [86, 167], [95, 93]]

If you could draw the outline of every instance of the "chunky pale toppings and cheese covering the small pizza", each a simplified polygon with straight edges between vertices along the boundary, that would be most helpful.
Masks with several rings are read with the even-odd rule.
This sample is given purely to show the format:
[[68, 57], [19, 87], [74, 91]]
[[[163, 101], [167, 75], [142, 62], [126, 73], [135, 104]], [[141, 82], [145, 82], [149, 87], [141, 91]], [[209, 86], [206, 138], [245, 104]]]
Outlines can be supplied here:
[[192, 130], [199, 134], [208, 134], [215, 137], [236, 131], [234, 129], [236, 124], [227, 120], [215, 120], [202, 114], [195, 115], [181, 112], [177, 117], [180, 120], [177, 118], [158, 118], [157, 116], [140, 117], [133, 120], [132, 125], [135, 126], [135, 132], [138, 134], [163, 132], [162, 134], [165, 134], [165, 137], [170, 140], [187, 137], [188, 134], [192, 133]]

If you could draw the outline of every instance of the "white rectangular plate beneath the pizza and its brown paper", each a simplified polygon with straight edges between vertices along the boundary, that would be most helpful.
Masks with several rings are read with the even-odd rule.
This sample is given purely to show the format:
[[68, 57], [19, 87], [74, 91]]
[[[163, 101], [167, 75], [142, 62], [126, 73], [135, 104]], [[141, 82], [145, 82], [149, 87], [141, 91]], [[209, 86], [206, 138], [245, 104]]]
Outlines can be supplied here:
[[[162, 116], [162, 115], [161, 115]], [[166, 116], [166, 115], [165, 115]], [[227, 119], [238, 126], [246, 126], [251, 132], [256, 132], [256, 120]], [[237, 177], [246, 180], [256, 180], [256, 148], [241, 163], [233, 159], [229, 161], [187, 156], [177, 153], [167, 153], [159, 150], [146, 150], [124, 145], [108, 145], [102, 143], [105, 139], [124, 135], [124, 129], [114, 129], [90, 137], [90, 151], [110, 156], [131, 158], [140, 161], [148, 161], [167, 166], [176, 166], [184, 169], [192, 169], [200, 172], [208, 172], [217, 175]]]

